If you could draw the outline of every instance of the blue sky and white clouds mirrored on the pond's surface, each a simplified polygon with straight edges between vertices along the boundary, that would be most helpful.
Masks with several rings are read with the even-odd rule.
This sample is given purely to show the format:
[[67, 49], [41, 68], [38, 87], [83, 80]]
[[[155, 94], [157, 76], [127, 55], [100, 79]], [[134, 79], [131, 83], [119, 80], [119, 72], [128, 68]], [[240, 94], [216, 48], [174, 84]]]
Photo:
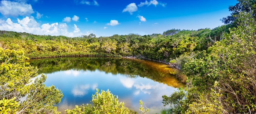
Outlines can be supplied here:
[[114, 95], [118, 95], [126, 107], [135, 111], [138, 111], [139, 100], [142, 100], [150, 108], [150, 113], [158, 113], [163, 107], [162, 95], [170, 95], [177, 90], [145, 77], [129, 78], [124, 74], [74, 69], [47, 74], [45, 85], [55, 85], [62, 91], [64, 96], [57, 105], [57, 109], [62, 113], [68, 108], [74, 108], [75, 105], [90, 103], [96, 88], [109, 89]]

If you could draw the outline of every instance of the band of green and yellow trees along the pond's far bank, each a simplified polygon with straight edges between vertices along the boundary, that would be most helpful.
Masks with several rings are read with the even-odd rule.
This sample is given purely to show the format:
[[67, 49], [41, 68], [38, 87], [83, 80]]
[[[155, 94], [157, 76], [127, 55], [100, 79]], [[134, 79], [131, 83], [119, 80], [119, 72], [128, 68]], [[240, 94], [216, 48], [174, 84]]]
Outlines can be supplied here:
[[[175, 59], [179, 55], [193, 52], [195, 46], [202, 41], [201, 39], [208, 36], [205, 35], [206, 32], [209, 32], [207, 30], [171, 29], [165, 31], [163, 35], [141, 36], [129, 34], [99, 38], [96, 38], [93, 34], [69, 38], [1, 31], [0, 46], [5, 49], [24, 51], [29, 58], [63, 56], [120, 57], [121, 55], [168, 61], [170, 58]], [[172, 35], [167, 35], [167, 33]], [[210, 41], [206, 40], [205, 43], [207, 42]]]

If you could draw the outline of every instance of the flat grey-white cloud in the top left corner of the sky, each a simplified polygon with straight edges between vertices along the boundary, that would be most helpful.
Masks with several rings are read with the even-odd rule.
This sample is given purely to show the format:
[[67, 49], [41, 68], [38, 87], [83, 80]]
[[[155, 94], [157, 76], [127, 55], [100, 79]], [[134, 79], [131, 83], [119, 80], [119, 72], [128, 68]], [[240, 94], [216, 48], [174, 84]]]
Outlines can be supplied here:
[[30, 4], [3, 0], [0, 3], [0, 13], [2, 13], [4, 16], [10, 15], [17, 17], [18, 15], [29, 16], [30, 14], [34, 13], [34, 11]]

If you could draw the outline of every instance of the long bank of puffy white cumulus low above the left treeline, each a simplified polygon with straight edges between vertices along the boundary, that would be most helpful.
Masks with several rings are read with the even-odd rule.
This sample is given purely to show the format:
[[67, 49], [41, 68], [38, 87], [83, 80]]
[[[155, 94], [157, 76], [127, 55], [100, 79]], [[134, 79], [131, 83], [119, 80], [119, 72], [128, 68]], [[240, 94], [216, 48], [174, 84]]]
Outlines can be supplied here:
[[52, 36], [67, 36], [67, 37], [78, 37], [81, 35], [89, 35], [95, 31], [87, 31], [82, 33], [80, 29], [74, 25], [73, 32], [68, 32], [68, 26], [66, 23], [45, 23], [40, 26], [34, 17], [25, 17], [23, 19], [17, 19], [17, 23], [14, 23], [10, 18], [7, 20], [0, 19], [0, 30], [27, 32], [37, 35], [52, 35]]

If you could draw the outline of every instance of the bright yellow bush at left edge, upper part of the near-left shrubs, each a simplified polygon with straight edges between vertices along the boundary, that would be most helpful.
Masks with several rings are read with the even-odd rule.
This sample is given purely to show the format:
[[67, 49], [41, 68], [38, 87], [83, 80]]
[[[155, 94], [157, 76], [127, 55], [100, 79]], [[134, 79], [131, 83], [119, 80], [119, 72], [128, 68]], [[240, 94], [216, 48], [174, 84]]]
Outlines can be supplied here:
[[0, 48], [0, 99], [19, 99], [25, 96], [24, 93], [28, 91], [25, 85], [36, 76], [36, 69], [24, 62], [27, 59], [22, 51]]

